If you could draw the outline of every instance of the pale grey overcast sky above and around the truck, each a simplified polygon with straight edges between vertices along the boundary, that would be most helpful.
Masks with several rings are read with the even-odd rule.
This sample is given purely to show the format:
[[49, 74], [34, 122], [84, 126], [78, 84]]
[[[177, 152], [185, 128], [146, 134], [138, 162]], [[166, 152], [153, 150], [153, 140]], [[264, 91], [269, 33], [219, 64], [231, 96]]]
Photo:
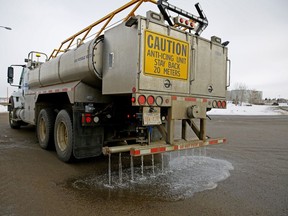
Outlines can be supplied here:
[[[0, 97], [7, 95], [7, 67], [23, 64], [31, 50], [51, 54], [79, 30], [128, 0], [0, 0]], [[231, 88], [237, 83], [263, 91], [263, 98], [288, 99], [287, 0], [169, 0], [197, 15], [199, 2], [209, 25], [201, 36], [229, 40]], [[145, 3], [136, 14], [158, 9]], [[18, 83], [15, 77], [14, 83]], [[9, 94], [14, 89], [8, 88]]]

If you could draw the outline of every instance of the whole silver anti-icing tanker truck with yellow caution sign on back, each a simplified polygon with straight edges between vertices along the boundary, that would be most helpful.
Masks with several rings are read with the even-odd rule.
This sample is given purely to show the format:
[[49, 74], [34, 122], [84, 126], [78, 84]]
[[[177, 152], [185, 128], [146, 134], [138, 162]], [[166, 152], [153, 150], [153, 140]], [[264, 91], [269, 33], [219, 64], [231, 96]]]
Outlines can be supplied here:
[[[136, 16], [142, 2], [159, 11]], [[120, 23], [108, 25], [132, 6]], [[14, 68], [22, 68], [9, 99], [11, 128], [35, 125], [40, 147], [55, 148], [64, 162], [225, 143], [206, 134], [206, 113], [226, 108], [228, 42], [200, 36], [208, 19], [195, 7], [199, 15], [167, 0], [132, 0], [63, 41], [50, 56], [30, 52], [25, 64], [8, 68], [10, 85]]]

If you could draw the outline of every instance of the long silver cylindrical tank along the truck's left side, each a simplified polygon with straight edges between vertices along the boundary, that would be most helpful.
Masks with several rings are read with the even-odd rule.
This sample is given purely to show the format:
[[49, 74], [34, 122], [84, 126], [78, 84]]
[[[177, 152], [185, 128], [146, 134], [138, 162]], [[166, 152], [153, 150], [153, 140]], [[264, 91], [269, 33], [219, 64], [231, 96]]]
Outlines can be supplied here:
[[102, 86], [103, 36], [81, 44], [29, 71], [29, 87], [44, 87], [81, 80]]

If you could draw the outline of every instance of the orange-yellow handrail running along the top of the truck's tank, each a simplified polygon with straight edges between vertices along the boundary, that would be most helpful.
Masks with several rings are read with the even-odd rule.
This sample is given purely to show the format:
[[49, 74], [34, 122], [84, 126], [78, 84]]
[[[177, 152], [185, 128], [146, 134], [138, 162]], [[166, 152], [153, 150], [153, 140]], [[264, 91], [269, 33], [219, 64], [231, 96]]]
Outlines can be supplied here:
[[[76, 34], [72, 35], [71, 37], [67, 38], [66, 40], [64, 40], [60, 47], [58, 49], [54, 49], [49, 57], [48, 60], [50, 60], [51, 58], [55, 58], [60, 52], [65, 52], [66, 50], [68, 50], [71, 46], [72, 43], [74, 42], [75, 38], [78, 37], [79, 35], [84, 34], [84, 36], [80, 39], [79, 44], [83, 43], [84, 40], [86, 39], [86, 37], [88, 36], [88, 34], [90, 33], [90, 31], [97, 25], [99, 25], [100, 23], [105, 22], [105, 24], [102, 26], [102, 28], [100, 29], [100, 31], [97, 33], [97, 35], [95, 37], [98, 37], [107, 27], [107, 25], [110, 23], [110, 21], [114, 18], [114, 16], [120, 12], [122, 12], [123, 10], [131, 7], [132, 5], [136, 4], [137, 5], [132, 9], [132, 11], [126, 16], [126, 18], [124, 18], [124, 21], [128, 20], [131, 16], [134, 15], [134, 12], [139, 8], [139, 6], [143, 3], [143, 2], [151, 2], [154, 4], [157, 4], [156, 0], [131, 0], [130, 2], [128, 2], [127, 4], [123, 5], [122, 7], [114, 10], [113, 12], [109, 13], [108, 15], [102, 17], [101, 19], [97, 20], [96, 22], [92, 23], [91, 25], [87, 26], [86, 28], [82, 29], [81, 31], [77, 32]], [[64, 45], [69, 43], [65, 48]]]

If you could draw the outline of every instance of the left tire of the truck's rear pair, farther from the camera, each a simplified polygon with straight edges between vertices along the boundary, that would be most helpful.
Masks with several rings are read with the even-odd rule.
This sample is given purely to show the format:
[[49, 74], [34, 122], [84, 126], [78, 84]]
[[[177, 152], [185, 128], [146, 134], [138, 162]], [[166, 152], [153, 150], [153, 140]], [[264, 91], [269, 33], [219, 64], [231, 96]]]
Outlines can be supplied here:
[[42, 109], [37, 118], [37, 138], [43, 149], [52, 149], [54, 144], [55, 115], [52, 109]]

